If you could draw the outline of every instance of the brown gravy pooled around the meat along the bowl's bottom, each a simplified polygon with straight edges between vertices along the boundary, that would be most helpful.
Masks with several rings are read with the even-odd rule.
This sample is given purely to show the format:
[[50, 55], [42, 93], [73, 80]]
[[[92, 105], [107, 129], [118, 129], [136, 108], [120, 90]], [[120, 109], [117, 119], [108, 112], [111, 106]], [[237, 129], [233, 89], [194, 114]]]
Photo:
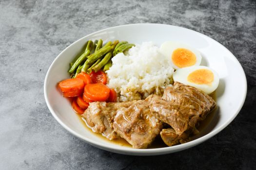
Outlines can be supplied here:
[[[216, 101], [216, 94], [215, 92], [210, 94], [210, 96]], [[197, 127], [197, 130], [199, 131], [199, 133], [208, 125], [210, 124], [210, 122], [212, 121], [214, 115], [215, 115], [215, 112], [216, 112], [216, 109], [214, 109], [212, 112], [210, 112], [207, 117], [200, 122], [200, 125]], [[119, 138], [119, 139], [113, 139], [113, 140], [108, 140], [105, 136], [102, 136], [101, 134], [99, 133], [94, 133], [92, 131], [92, 129], [90, 129], [86, 123], [84, 122], [84, 120], [82, 119], [82, 116], [78, 115], [79, 116], [79, 120], [80, 122], [83, 124], [84, 128], [87, 130], [87, 131], [90, 131], [91, 133], [93, 133], [95, 136], [98, 136], [99, 138], [105, 140], [105, 141], [108, 141], [110, 143], [114, 143], [116, 145], [119, 145], [119, 146], [125, 146], [125, 147], [130, 147], [132, 148], [132, 145], [129, 144], [125, 139], [123, 138]], [[164, 147], [168, 147], [164, 142], [163, 140], [161, 139], [160, 135], [157, 136], [155, 138], [155, 140], [153, 141], [153, 143], [148, 147], [148, 149], [153, 149], [153, 148], [164, 148]]]

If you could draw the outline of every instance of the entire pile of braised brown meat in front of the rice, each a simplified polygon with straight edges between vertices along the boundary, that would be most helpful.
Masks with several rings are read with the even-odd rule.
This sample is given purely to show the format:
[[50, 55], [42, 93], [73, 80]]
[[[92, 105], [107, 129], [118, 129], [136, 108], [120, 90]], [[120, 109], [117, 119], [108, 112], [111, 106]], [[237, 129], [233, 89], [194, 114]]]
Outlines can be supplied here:
[[[150, 95], [144, 101], [91, 102], [84, 119], [96, 133], [112, 140], [121, 136], [134, 148], [147, 148], [160, 134], [173, 146], [189, 141], [196, 124], [216, 107], [207, 94], [189, 85], [175, 82], [162, 97]], [[167, 123], [171, 128], [163, 128]]]

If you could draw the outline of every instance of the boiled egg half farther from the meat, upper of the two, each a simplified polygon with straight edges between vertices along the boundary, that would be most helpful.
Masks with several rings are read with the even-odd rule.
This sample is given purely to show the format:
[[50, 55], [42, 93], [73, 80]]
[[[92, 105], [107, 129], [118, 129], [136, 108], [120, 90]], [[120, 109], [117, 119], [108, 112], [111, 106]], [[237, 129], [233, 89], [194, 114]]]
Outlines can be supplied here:
[[166, 41], [162, 43], [160, 51], [171, 60], [175, 69], [199, 66], [202, 56], [199, 51], [185, 44]]

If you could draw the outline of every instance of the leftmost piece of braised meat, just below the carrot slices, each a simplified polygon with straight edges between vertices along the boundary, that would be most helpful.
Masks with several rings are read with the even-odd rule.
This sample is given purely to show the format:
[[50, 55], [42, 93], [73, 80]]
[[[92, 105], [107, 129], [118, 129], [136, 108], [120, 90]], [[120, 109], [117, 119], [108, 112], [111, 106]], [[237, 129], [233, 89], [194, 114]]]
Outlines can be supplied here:
[[83, 114], [86, 123], [93, 132], [101, 133], [108, 139], [118, 138], [113, 130], [113, 121], [117, 110], [129, 107], [133, 102], [91, 102]]

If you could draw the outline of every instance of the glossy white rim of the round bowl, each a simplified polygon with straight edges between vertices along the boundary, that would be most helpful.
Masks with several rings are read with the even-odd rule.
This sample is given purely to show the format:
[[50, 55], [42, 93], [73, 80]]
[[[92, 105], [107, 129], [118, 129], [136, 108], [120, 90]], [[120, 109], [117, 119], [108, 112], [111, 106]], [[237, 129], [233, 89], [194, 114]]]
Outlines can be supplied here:
[[[141, 155], [146, 155], [147, 153], [150, 154], [150, 155], [157, 155], [157, 154], [166, 154], [166, 153], [171, 153], [171, 152], [176, 152], [176, 151], [181, 151], [181, 150], [185, 150], [187, 148], [190, 148], [192, 146], [195, 146], [199, 143], [202, 143], [203, 141], [215, 136], [217, 133], [219, 133], [220, 131], [222, 131], [227, 125], [229, 125], [237, 116], [237, 114], [239, 113], [239, 111], [241, 110], [244, 102], [245, 102], [245, 98], [246, 98], [246, 94], [247, 94], [247, 80], [246, 80], [246, 76], [245, 76], [245, 73], [244, 73], [244, 70], [241, 66], [241, 64], [239, 63], [239, 61], [236, 59], [236, 57], [234, 56], [234, 54], [232, 52], [230, 52], [226, 47], [224, 47], [230, 54], [231, 56], [233, 57], [233, 59], [235, 59], [235, 62], [237, 63], [237, 66], [241, 68], [241, 70], [243, 71], [243, 76], [240, 77], [242, 79], [241, 82], [243, 82], [245, 85], [244, 85], [244, 95], [242, 96], [242, 102], [240, 103], [240, 106], [238, 107], [238, 109], [236, 110], [236, 113], [234, 114], [233, 117], [231, 117], [230, 119], [228, 119], [225, 123], [223, 123], [222, 125], [220, 125], [217, 129], [213, 130], [212, 132], [204, 135], [204, 136], [201, 136], [195, 140], [192, 140], [190, 142], [187, 142], [187, 143], [184, 143], [184, 144], [180, 144], [180, 145], [176, 145], [176, 146], [171, 146], [171, 147], [164, 147], [164, 148], [154, 148], [154, 149], [134, 149], [134, 148], [128, 148], [128, 147], [115, 147], [115, 146], [111, 146], [111, 145], [107, 145], [107, 144], [102, 144], [98, 141], [94, 141], [90, 138], [87, 138], [86, 136], [82, 136], [82, 135], [79, 135], [77, 132], [75, 132], [74, 130], [72, 130], [71, 128], [69, 128], [65, 123], [63, 123], [59, 117], [56, 115], [56, 113], [54, 112], [52, 106], [50, 105], [50, 102], [48, 100], [48, 96], [47, 96], [47, 93], [46, 93], [46, 82], [47, 82], [47, 79], [48, 79], [48, 76], [49, 76], [49, 72], [51, 70], [51, 68], [53, 67], [54, 63], [56, 62], [56, 60], [59, 58], [59, 56], [61, 56], [61, 54], [66, 51], [70, 46], [72, 46], [73, 44], [77, 43], [79, 40], [83, 39], [83, 38], [86, 38], [92, 34], [97, 34], [98, 32], [102, 32], [102, 31], [107, 31], [107, 30], [110, 30], [110, 29], [113, 29], [113, 28], [118, 28], [118, 27], [125, 27], [125, 26], [132, 26], [132, 25], [163, 25], [163, 26], [170, 26], [170, 27], [177, 27], [179, 29], [185, 29], [185, 30], [189, 30], [189, 31], [193, 31], [195, 32], [196, 34], [199, 34], [199, 35], [202, 35], [202, 36], [206, 36], [210, 39], [212, 39], [213, 41], [215, 41], [217, 44], [219, 44], [220, 46], [224, 47], [222, 44], [220, 44], [219, 42], [217, 42], [215, 39], [207, 36], [207, 35], [204, 35], [204, 34], [201, 34], [197, 31], [194, 31], [194, 30], [191, 30], [191, 29], [187, 29], [187, 28], [184, 28], [184, 27], [179, 27], [179, 26], [174, 26], [174, 25], [168, 25], [168, 24], [158, 24], [158, 23], [136, 23], [136, 24], [125, 24], [125, 25], [119, 25], [119, 26], [115, 26], [115, 27], [109, 27], [109, 28], [106, 28], [106, 29], [102, 29], [102, 30], [99, 30], [97, 32], [94, 32], [94, 33], [91, 33], [91, 34], [88, 34], [88, 35], [85, 35], [83, 36], [82, 38], [78, 39], [77, 41], [75, 41], [74, 43], [70, 44], [68, 47], [66, 47], [63, 51], [61, 51], [59, 53], [59, 55], [54, 59], [54, 61], [52, 62], [51, 66], [48, 68], [48, 71], [46, 73], [46, 76], [45, 76], [45, 80], [44, 80], [44, 98], [45, 98], [45, 101], [46, 101], [46, 104], [50, 110], [50, 112], [52, 113], [53, 117], [59, 122], [59, 124], [64, 127], [68, 132], [70, 132], [71, 134], [73, 134], [74, 136], [77, 136], [79, 137], [80, 139], [86, 141], [87, 143], [91, 144], [91, 145], [94, 145], [98, 148], [101, 148], [103, 150], [106, 150], [106, 151], [111, 151], [111, 152], [115, 152], [115, 153], [122, 153], [122, 154], [137, 154], [137, 153], [140, 153]], [[152, 154], [153, 153], [153, 154]]]

